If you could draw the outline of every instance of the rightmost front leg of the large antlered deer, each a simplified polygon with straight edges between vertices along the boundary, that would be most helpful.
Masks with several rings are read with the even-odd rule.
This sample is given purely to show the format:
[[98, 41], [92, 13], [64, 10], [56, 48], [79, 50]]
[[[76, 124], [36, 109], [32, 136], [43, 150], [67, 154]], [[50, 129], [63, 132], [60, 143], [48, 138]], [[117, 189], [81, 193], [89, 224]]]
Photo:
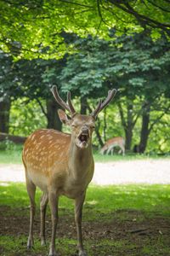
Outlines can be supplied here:
[[87, 256], [88, 254], [84, 251], [82, 243], [82, 207], [85, 200], [86, 193], [84, 192], [75, 200], [75, 221], [77, 225], [77, 241], [79, 256]]

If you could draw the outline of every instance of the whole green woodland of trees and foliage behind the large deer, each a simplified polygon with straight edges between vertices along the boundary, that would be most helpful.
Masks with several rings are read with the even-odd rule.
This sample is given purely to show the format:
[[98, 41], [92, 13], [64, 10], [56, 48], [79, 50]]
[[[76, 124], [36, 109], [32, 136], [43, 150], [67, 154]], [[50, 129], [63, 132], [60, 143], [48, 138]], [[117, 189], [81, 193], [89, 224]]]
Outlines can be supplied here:
[[[61, 130], [50, 88], [99, 114], [94, 145], [122, 136], [127, 152], [170, 151], [169, 1], [0, 1], [0, 132]], [[64, 131], [65, 128], [63, 127]]]

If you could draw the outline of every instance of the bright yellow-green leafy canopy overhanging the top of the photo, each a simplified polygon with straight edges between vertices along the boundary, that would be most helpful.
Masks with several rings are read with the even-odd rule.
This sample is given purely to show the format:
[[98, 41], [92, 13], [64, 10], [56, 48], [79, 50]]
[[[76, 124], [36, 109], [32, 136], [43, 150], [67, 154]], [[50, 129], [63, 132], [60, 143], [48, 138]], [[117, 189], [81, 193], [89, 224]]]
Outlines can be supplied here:
[[108, 38], [113, 27], [117, 35], [150, 28], [158, 38], [170, 33], [169, 13], [168, 0], [1, 0], [0, 47], [18, 58], [62, 58], [73, 50], [62, 32]]

